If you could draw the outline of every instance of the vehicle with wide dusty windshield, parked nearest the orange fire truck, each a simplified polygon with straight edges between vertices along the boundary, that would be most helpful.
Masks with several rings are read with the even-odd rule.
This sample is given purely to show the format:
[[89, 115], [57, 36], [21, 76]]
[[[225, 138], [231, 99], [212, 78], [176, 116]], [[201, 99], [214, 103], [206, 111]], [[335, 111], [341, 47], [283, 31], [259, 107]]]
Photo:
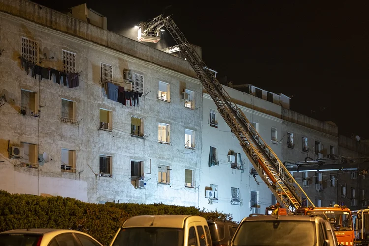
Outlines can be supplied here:
[[338, 246], [331, 224], [312, 215], [260, 215], [244, 218], [231, 246]]

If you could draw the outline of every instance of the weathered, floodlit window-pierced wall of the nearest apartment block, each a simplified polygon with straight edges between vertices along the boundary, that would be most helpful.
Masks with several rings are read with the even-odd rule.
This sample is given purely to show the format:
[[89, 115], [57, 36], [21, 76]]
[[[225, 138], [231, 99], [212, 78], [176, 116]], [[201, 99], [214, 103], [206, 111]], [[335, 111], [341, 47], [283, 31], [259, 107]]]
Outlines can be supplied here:
[[[15, 14], [17, 11], [19, 14], [22, 12], [22, 15], [25, 14], [38, 22], [48, 20], [50, 25], [60, 23], [47, 19], [46, 13], [42, 11], [48, 11], [49, 17], [53, 19], [57, 16], [66, 18], [48, 9], [35, 9], [38, 5], [28, 1], [1, 1], [1, 9], [10, 8], [13, 4], [17, 6], [15, 3], [20, 4], [20, 9], [9, 11], [15, 11]], [[32, 14], [31, 11], [36, 12]], [[82, 25], [74, 19], [68, 20]], [[0, 110], [0, 161], [4, 160], [0, 163], [0, 189], [12, 193], [69, 196], [89, 202], [114, 199], [120, 202], [198, 205], [198, 189], [184, 187], [184, 170], [193, 169], [195, 181], [198, 183], [201, 155], [201, 137], [198, 136], [201, 136], [202, 112], [184, 108], [184, 102], [180, 101], [180, 92], [186, 88], [194, 91], [195, 95], [200, 95], [202, 86], [198, 80], [5, 13], [2, 14], [1, 25], [1, 49], [5, 51], [0, 58], [0, 88], [6, 89], [14, 102], [2, 106]], [[55, 83], [54, 79], [42, 79], [39, 82], [38, 77], [34, 79], [27, 75], [18, 59], [22, 36], [40, 42], [41, 49], [47, 47], [50, 50], [54, 59], [42, 60], [43, 67], [61, 70], [62, 49], [76, 53], [77, 71], [82, 71], [79, 86], [67, 88]], [[131, 47], [132, 53], [140, 50], [141, 44], [137, 45]], [[146, 58], [155, 57], [149, 54], [151, 51], [151, 48], [147, 50]], [[165, 53], [162, 56], [170, 57]], [[99, 84], [101, 62], [113, 66], [114, 81], [123, 82], [124, 69], [144, 75], [144, 92], [147, 95], [139, 98], [139, 107], [123, 106], [107, 99]], [[158, 100], [159, 80], [170, 84], [170, 103]], [[21, 89], [38, 93], [39, 104], [42, 106], [40, 118], [23, 116], [17, 112], [20, 107]], [[60, 121], [62, 98], [76, 102], [79, 125]], [[195, 98], [196, 106], [201, 108], [201, 96]], [[112, 110], [112, 132], [98, 130], [99, 108]], [[130, 136], [131, 116], [143, 118], [144, 133], [149, 135], [146, 140]], [[158, 143], [158, 122], [171, 125], [171, 145]], [[195, 131], [198, 148], [191, 153], [184, 148], [185, 128]], [[8, 140], [10, 146], [19, 146], [20, 142], [38, 144], [39, 153], [49, 153], [52, 161], [45, 163], [39, 170], [19, 167], [17, 160], [8, 159]], [[76, 151], [75, 173], [61, 170], [62, 148]], [[100, 154], [112, 156], [112, 178], [95, 176], [94, 173], [99, 173]], [[135, 189], [130, 182], [131, 159], [144, 161], [147, 183], [145, 189]], [[157, 184], [158, 164], [172, 168], [170, 185]]]

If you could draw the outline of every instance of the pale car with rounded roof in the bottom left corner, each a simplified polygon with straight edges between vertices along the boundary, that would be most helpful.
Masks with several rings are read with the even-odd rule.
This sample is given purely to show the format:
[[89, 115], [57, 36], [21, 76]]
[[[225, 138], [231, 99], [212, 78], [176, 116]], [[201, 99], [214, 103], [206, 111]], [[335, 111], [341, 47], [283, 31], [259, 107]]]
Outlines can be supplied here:
[[0, 233], [1, 246], [102, 246], [90, 235], [73, 230], [21, 229]]

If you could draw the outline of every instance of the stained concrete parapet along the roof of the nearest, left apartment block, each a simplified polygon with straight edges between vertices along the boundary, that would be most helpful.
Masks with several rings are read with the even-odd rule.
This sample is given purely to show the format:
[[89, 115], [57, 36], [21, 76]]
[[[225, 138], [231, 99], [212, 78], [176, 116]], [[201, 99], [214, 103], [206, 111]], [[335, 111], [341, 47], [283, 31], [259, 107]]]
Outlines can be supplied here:
[[160, 66], [196, 77], [184, 59], [172, 56], [112, 31], [85, 23], [28, 0], [0, 0], [0, 11], [61, 31]]

